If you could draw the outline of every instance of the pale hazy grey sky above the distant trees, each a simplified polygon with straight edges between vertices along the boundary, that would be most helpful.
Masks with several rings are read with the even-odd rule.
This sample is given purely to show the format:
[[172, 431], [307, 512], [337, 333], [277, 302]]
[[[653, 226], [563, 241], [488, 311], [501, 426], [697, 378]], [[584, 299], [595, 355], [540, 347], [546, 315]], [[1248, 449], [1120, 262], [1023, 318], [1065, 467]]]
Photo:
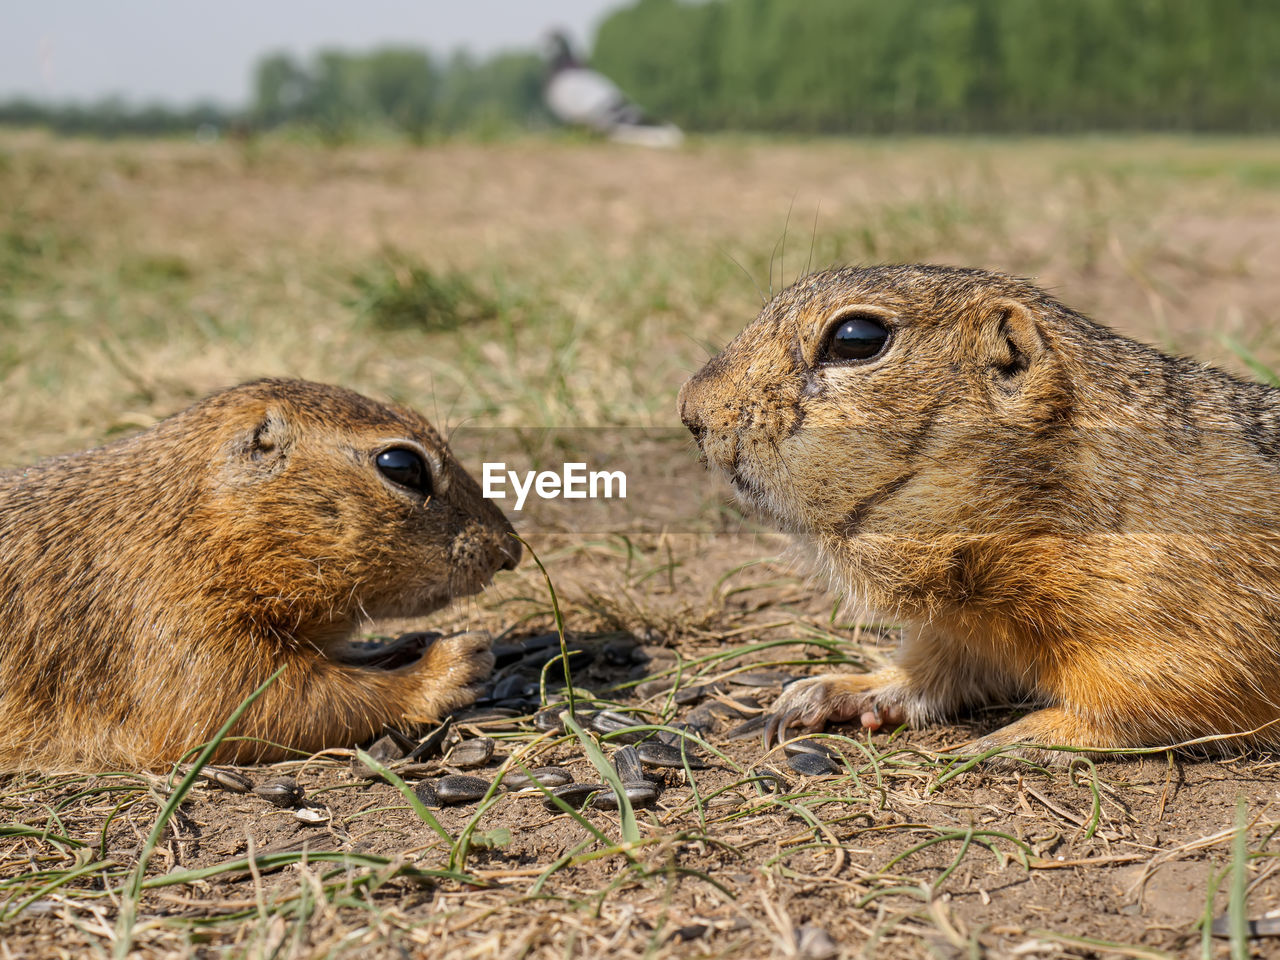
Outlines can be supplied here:
[[581, 44], [623, 1], [0, 0], [0, 99], [236, 104], [271, 50], [410, 44], [488, 54], [536, 47], [553, 26]]

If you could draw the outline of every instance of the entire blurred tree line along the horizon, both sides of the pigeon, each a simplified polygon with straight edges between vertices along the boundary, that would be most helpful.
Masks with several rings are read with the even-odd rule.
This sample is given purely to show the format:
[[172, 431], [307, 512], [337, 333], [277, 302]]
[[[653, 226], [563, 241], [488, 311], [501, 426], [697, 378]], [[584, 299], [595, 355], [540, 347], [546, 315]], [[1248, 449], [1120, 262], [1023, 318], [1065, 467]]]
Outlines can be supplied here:
[[[600, 24], [591, 63], [687, 129], [1280, 129], [1274, 0], [636, 0]], [[0, 124], [422, 141], [545, 125], [543, 74], [534, 52], [273, 54], [243, 108], [19, 100]]]

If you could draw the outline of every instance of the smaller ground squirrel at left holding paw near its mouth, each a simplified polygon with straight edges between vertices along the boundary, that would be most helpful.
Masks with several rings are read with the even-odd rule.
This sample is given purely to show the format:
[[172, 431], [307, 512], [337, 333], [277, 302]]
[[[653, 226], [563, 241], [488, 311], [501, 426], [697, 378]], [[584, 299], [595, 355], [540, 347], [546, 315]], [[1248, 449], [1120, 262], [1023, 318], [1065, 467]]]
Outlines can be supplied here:
[[279, 746], [228, 742], [218, 759], [435, 719], [474, 699], [486, 636], [381, 664], [346, 641], [518, 559], [425, 419], [301, 380], [0, 474], [0, 768], [172, 762], [282, 666], [232, 731]]

